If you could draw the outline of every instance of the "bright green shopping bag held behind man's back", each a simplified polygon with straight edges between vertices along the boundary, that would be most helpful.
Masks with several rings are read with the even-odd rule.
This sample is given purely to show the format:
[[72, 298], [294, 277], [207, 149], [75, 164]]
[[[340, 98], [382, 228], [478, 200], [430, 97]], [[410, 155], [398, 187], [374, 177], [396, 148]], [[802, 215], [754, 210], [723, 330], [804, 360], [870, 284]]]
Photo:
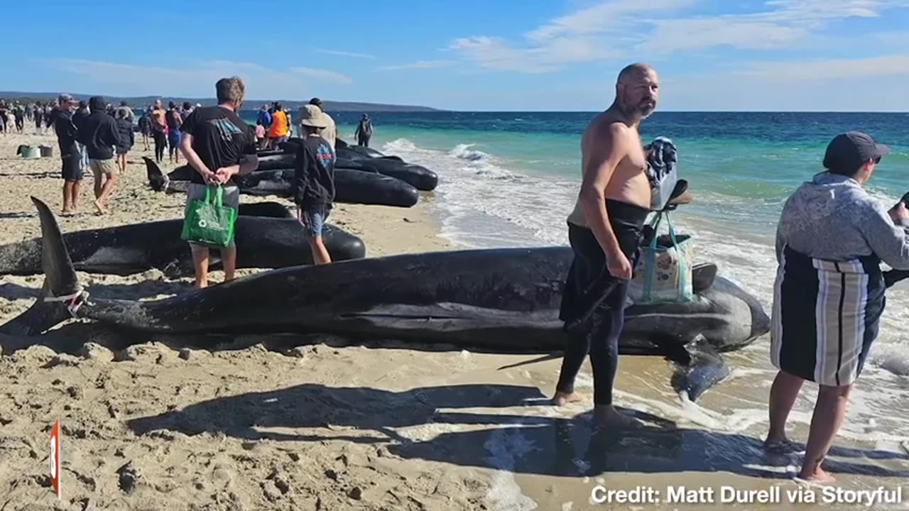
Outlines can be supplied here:
[[[215, 196], [212, 197], [212, 188]], [[227, 246], [234, 237], [236, 210], [222, 205], [224, 187], [206, 186], [205, 199], [190, 201], [183, 221], [185, 241], [202, 245]]]

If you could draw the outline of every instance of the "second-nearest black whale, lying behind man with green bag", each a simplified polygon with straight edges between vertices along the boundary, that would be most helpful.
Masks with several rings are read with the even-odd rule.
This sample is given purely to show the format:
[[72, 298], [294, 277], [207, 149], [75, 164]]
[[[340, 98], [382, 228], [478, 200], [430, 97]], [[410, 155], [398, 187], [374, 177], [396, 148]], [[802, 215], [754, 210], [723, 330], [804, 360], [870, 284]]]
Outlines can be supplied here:
[[[313, 264], [303, 227], [284, 205], [240, 205], [235, 224], [238, 268], [281, 268]], [[133, 275], [156, 268], [167, 276], [193, 275], [189, 245], [180, 239], [183, 220], [117, 225], [64, 235], [76, 270]], [[325, 247], [333, 260], [365, 257], [363, 240], [335, 225], [325, 225]], [[0, 245], [0, 274], [35, 275], [41, 271], [41, 238]], [[212, 251], [210, 265], [220, 266]]]

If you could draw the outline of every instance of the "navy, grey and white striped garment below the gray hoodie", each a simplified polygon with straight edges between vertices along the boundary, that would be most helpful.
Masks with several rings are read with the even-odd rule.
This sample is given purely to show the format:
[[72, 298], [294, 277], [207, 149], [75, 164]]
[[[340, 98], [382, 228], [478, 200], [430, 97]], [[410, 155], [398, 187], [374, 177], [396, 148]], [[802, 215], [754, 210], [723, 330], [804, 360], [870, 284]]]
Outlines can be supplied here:
[[862, 372], [884, 313], [884, 277], [874, 255], [826, 261], [784, 247], [774, 283], [770, 358], [823, 386]]

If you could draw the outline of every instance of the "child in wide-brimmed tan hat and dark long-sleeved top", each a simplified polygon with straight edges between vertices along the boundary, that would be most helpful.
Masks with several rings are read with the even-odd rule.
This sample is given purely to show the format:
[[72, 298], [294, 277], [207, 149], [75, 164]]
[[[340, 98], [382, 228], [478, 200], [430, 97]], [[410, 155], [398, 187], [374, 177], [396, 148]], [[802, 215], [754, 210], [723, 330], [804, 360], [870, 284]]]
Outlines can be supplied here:
[[322, 227], [335, 201], [335, 150], [319, 135], [328, 125], [322, 110], [315, 105], [305, 105], [300, 114], [304, 139], [296, 153], [294, 202], [313, 251], [313, 260], [316, 265], [325, 265], [332, 262], [322, 242]]

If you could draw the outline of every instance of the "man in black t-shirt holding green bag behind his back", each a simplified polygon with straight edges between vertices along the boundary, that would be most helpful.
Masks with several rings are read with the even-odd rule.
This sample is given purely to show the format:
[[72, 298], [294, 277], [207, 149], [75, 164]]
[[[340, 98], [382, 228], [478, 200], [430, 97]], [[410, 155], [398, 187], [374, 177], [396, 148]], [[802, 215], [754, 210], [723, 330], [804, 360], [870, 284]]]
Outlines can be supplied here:
[[[249, 174], [259, 166], [255, 155], [255, 133], [236, 113], [243, 104], [245, 86], [234, 76], [222, 78], [215, 84], [217, 106], [196, 108], [185, 118], [181, 131], [180, 150], [189, 165], [195, 169], [186, 193], [186, 205], [204, 198], [208, 186], [223, 185], [223, 204], [236, 209], [240, 203], [240, 189], [234, 176]], [[191, 243], [195, 266], [195, 287], [208, 286], [209, 246]], [[225, 282], [235, 278], [236, 245], [234, 240], [221, 250], [221, 263]]]

